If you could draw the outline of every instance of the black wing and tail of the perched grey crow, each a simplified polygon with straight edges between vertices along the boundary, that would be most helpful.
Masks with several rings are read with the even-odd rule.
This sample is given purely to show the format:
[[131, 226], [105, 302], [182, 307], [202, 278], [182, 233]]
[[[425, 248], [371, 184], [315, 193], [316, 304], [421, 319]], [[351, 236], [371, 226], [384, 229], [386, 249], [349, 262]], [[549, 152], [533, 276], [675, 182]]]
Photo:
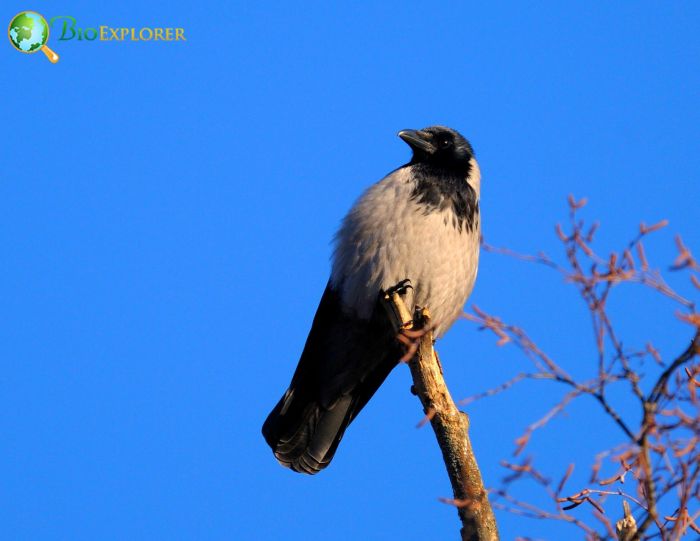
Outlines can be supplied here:
[[326, 287], [292, 383], [263, 424], [277, 460], [312, 475], [328, 466], [400, 357], [384, 313], [369, 321], [350, 317]]

